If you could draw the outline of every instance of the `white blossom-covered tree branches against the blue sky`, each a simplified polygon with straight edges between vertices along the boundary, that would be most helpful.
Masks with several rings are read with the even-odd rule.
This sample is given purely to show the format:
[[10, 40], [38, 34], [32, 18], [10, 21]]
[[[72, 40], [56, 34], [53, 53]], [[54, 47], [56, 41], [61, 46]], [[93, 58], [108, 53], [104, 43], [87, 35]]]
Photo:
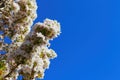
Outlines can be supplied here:
[[0, 54], [0, 80], [43, 78], [50, 59], [57, 56], [49, 41], [60, 34], [60, 24], [45, 19], [33, 25], [36, 10], [36, 0], [0, 1], [0, 51], [6, 52]]

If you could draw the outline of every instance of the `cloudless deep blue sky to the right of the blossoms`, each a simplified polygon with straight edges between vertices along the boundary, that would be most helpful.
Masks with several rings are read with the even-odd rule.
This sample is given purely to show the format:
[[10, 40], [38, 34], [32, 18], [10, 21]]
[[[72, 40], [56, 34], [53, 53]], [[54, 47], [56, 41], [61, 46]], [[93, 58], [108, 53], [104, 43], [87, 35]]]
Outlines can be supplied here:
[[37, 0], [38, 19], [57, 19], [44, 80], [120, 80], [120, 0]]

